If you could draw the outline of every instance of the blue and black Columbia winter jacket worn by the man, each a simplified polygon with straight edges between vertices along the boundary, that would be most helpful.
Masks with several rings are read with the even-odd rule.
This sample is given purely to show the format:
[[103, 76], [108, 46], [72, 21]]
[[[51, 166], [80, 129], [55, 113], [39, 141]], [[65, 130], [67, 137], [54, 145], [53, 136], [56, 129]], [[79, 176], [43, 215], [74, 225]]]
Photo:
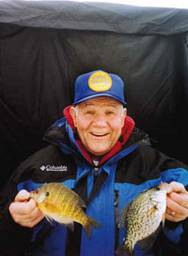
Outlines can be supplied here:
[[[119, 230], [116, 221], [122, 209], [135, 196], [162, 181], [176, 180], [187, 186], [187, 167], [152, 148], [147, 134], [130, 128], [130, 124], [126, 126], [132, 132], [128, 135], [125, 128], [118, 149], [112, 150], [96, 167], [78, 144], [76, 131], [67, 119], [58, 120], [47, 130], [44, 139], [51, 145], [24, 161], [9, 180], [1, 198], [4, 216], [0, 218], [1, 240], [6, 245], [14, 235], [14, 241], [8, 242], [9, 247], [24, 253], [20, 255], [113, 256], [126, 237], [126, 230]], [[19, 227], [11, 219], [8, 205], [18, 191], [31, 191], [51, 181], [61, 182], [82, 196], [86, 214], [101, 223], [99, 229], [92, 230], [90, 239], [80, 224], [75, 223], [72, 232], [43, 219], [34, 229], [28, 229]], [[166, 221], [154, 246], [147, 250], [136, 245], [134, 255], [178, 255], [180, 249], [184, 250], [186, 227], [186, 220], [178, 224]], [[162, 244], [165, 246], [159, 247]]]

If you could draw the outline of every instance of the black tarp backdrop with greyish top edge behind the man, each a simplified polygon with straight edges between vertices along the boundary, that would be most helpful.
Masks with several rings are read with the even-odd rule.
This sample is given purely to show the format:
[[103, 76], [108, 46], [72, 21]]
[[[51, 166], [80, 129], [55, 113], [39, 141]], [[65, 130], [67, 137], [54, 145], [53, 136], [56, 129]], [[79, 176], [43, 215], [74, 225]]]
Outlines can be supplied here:
[[96, 69], [123, 78], [136, 126], [188, 163], [187, 30], [184, 9], [0, 1], [0, 185], [45, 145], [75, 78]]

